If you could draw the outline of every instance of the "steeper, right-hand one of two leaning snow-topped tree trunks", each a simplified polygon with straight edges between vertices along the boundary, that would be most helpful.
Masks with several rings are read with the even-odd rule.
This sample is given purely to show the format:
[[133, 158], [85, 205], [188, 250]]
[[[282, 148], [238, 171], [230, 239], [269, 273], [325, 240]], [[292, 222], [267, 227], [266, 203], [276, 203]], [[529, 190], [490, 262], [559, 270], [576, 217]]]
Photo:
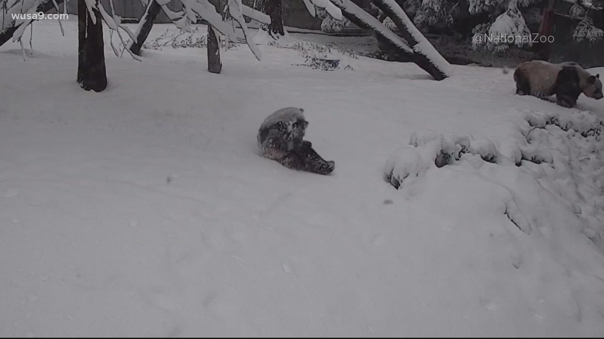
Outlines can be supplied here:
[[[423, 36], [423, 34], [419, 32], [419, 30], [417, 30], [417, 28], [413, 25], [409, 17], [406, 17], [405, 12], [402, 8], [400, 8], [400, 6], [396, 2], [374, 0], [373, 4], [376, 5], [377, 8], [382, 10], [384, 14], [390, 17], [392, 22], [394, 22], [394, 25], [396, 25], [396, 28], [398, 28], [399, 34], [403, 37], [403, 39], [406, 40], [406, 42], [412, 48], [417, 46], [420, 43], [419, 39], [423, 37], [424, 43], [426, 43], [426, 45], [429, 45], [428, 47], [431, 47], [430, 49], [434, 51], [434, 54], [439, 54], [439, 56], [442, 58], [442, 56], [438, 51], [436, 51], [434, 46], [429, 43], [429, 40], [425, 36]], [[417, 66], [420, 66], [420, 68], [432, 75], [435, 80], [443, 80], [447, 77], [445, 72], [443, 72], [442, 69], [439, 69], [436, 60], [432, 60], [429, 55], [426, 55], [425, 51], [417, 51], [414, 48], [413, 55], [411, 55], [411, 60], [413, 61], [413, 63], [416, 63]], [[446, 60], [444, 62], [446, 62]]]

